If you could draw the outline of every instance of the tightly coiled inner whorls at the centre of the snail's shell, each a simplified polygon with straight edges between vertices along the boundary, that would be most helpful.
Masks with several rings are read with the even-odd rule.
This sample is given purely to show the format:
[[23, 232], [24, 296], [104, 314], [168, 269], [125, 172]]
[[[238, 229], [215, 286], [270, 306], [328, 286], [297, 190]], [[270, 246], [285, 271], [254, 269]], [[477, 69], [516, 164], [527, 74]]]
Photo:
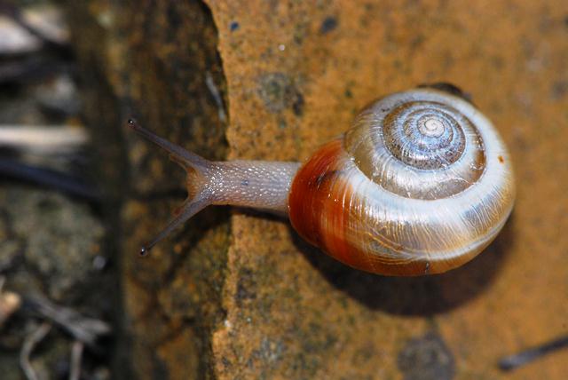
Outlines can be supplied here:
[[346, 150], [368, 178], [394, 194], [434, 200], [460, 193], [484, 172], [485, 146], [468, 117], [475, 108], [460, 111], [448, 97], [469, 105], [432, 90], [375, 102], [346, 133]]

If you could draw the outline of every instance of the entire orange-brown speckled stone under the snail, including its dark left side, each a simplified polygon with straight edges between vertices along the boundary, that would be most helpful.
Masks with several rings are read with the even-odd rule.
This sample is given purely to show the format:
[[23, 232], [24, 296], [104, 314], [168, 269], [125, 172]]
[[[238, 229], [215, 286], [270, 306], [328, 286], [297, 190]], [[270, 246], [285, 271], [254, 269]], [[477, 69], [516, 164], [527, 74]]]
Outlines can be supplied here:
[[[128, 136], [130, 186], [144, 195], [122, 209], [124, 326], [139, 378], [495, 379], [503, 355], [566, 333], [564, 1], [93, 0], [86, 12], [104, 29], [99, 70], [114, 111], [130, 107], [208, 158], [302, 161], [372, 99], [450, 82], [493, 120], [517, 170], [504, 231], [444, 275], [360, 273], [285, 221], [227, 208], [140, 260], [138, 242], [181, 200], [169, 192], [183, 173]], [[567, 355], [507, 378], [564, 378]]]

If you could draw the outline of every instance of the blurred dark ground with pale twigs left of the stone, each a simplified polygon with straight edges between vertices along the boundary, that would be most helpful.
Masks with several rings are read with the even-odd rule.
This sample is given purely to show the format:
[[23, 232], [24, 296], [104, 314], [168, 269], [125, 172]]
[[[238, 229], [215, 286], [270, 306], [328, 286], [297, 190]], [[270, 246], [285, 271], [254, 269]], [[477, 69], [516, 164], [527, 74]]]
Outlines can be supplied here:
[[117, 273], [61, 4], [0, 2], [0, 373], [111, 378]]

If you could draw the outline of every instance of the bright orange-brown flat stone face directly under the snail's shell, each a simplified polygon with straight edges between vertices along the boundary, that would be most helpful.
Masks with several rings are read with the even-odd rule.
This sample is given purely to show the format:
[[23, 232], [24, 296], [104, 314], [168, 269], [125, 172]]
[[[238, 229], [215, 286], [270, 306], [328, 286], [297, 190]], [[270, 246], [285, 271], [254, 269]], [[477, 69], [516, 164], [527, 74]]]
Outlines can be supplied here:
[[[427, 331], [446, 342], [455, 378], [498, 378], [502, 355], [566, 332], [562, 2], [208, 3], [231, 157], [304, 160], [377, 96], [450, 82], [497, 125], [518, 184], [497, 241], [469, 265], [426, 279], [356, 273], [296, 241], [284, 223], [234, 216], [227, 319], [213, 346], [220, 378], [400, 378], [399, 352]], [[508, 376], [562, 378], [566, 355]]]

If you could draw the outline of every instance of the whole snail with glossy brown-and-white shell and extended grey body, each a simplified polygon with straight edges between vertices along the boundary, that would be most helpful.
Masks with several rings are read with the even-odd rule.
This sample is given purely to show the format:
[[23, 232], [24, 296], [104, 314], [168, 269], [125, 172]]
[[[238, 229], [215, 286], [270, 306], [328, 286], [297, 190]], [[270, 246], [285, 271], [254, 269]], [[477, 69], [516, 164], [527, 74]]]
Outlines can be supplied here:
[[146, 131], [187, 171], [188, 197], [157, 241], [210, 204], [288, 215], [306, 241], [370, 273], [422, 275], [463, 265], [493, 241], [515, 199], [509, 153], [459, 93], [397, 92], [299, 162], [209, 162]]

